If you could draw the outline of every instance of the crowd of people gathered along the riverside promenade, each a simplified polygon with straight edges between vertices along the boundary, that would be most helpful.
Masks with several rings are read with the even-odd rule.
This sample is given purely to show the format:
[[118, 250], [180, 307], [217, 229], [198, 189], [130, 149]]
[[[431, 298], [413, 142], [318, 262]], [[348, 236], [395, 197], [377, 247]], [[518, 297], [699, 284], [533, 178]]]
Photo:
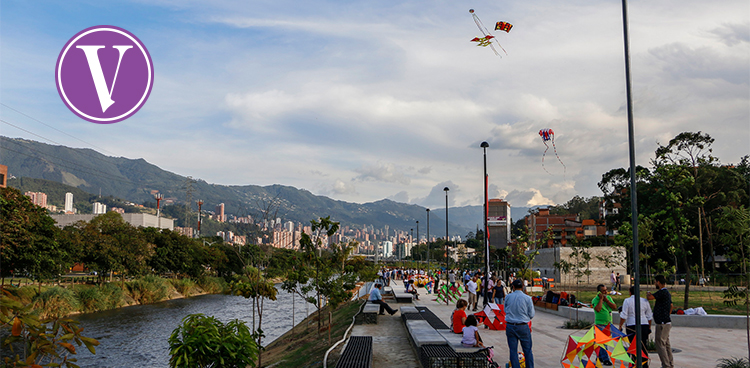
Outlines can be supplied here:
[[[424, 288], [428, 293], [437, 293], [441, 283], [447, 283], [449, 288], [458, 288], [463, 286], [467, 292], [467, 299], [460, 298], [456, 303], [456, 309], [451, 315], [451, 330], [454, 333], [462, 334], [461, 343], [467, 347], [484, 347], [482, 338], [477, 327], [477, 318], [467, 312], [478, 310], [478, 301], [480, 297], [486, 297], [488, 303], [502, 305], [505, 311], [506, 338], [510, 352], [510, 366], [519, 368], [518, 346], [520, 344], [523, 351], [525, 366], [534, 367], [534, 354], [532, 351], [532, 337], [530, 321], [534, 318], [535, 310], [532, 298], [526, 293], [528, 283], [525, 280], [515, 278], [511, 274], [507, 283], [502, 278], [490, 275], [484, 277], [481, 270], [448, 270], [425, 272], [418, 269], [382, 269], [378, 272], [380, 284], [390, 285], [391, 280], [403, 280], [406, 291], [415, 294], [419, 298], [419, 290]], [[610, 278], [612, 291], [621, 288], [619, 275], [612, 275]], [[594, 310], [594, 324], [600, 330], [604, 331], [612, 325], [612, 312], [620, 310], [621, 331], [625, 326], [625, 332], [628, 335], [635, 334], [636, 329], [640, 329], [641, 341], [648, 341], [652, 332], [652, 326], [655, 328], [656, 349], [663, 368], [673, 368], [674, 359], [669, 342], [671, 330], [672, 299], [671, 294], [666, 288], [666, 279], [663, 276], [657, 276], [655, 286], [658, 291], [647, 293], [646, 298], [639, 297], [636, 300], [635, 288], [630, 287], [630, 297], [625, 299], [622, 306], [618, 308], [610, 296], [610, 290], [604, 284], [597, 286], [597, 294], [591, 300], [591, 307]], [[371, 294], [370, 300], [373, 303], [381, 305], [380, 313], [388, 311], [394, 314], [396, 311], [391, 309], [387, 303], [382, 301], [379, 288], [376, 288], [376, 297], [373, 299]], [[649, 300], [654, 300], [653, 311]], [[636, 326], [635, 303], [640, 304], [640, 326]], [[645, 344], [643, 349], [645, 349]], [[609, 354], [604, 349], [599, 349], [598, 362], [601, 366], [611, 366], [612, 362]], [[644, 364], [644, 367], [648, 367]]]

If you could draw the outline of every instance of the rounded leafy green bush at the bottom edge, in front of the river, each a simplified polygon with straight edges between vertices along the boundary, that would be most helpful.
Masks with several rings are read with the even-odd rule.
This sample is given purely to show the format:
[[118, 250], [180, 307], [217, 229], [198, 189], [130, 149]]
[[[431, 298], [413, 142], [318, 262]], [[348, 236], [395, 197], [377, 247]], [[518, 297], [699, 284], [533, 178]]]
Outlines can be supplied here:
[[191, 314], [169, 337], [169, 366], [255, 366], [258, 347], [254, 338], [245, 322], [238, 319], [225, 325], [214, 317]]

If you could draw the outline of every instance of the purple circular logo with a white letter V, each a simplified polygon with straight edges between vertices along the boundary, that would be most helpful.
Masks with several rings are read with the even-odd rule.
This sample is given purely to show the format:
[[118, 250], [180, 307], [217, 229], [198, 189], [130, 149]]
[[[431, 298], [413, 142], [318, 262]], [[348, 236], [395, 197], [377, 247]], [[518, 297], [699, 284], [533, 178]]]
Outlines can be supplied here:
[[113, 26], [78, 32], [57, 58], [60, 98], [82, 119], [111, 124], [140, 109], [154, 84], [151, 56], [141, 40]]

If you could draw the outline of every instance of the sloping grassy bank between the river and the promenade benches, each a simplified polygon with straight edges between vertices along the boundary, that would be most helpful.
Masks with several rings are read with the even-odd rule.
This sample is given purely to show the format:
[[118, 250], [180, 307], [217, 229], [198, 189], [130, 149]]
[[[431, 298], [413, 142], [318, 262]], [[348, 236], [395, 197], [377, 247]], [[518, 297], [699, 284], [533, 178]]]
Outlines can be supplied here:
[[[341, 340], [344, 332], [352, 323], [352, 316], [357, 314], [361, 301], [349, 302], [333, 311], [331, 326], [331, 341], [328, 340], [328, 330], [318, 333], [317, 313], [311, 314], [292, 331], [287, 331], [266, 347], [263, 354], [263, 365], [278, 363], [278, 368], [313, 368], [323, 366], [323, 356], [326, 350]], [[328, 322], [328, 310], [321, 311], [323, 326]], [[336, 361], [329, 355], [328, 366], [333, 367]], [[337, 357], [335, 357], [338, 359]]]

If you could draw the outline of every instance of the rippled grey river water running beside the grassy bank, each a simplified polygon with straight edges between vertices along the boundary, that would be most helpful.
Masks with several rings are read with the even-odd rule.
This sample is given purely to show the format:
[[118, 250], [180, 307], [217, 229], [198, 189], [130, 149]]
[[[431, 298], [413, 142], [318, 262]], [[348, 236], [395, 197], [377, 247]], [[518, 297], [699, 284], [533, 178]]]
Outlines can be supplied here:
[[[276, 297], [276, 301], [264, 302], [261, 327], [266, 337], [263, 345], [292, 328], [292, 295], [279, 290]], [[315, 311], [312, 304], [298, 295], [294, 301], [295, 323]], [[101, 344], [96, 348], [96, 355], [84, 346], [77, 348], [77, 364], [84, 368], [168, 367], [167, 340], [182, 319], [194, 313], [214, 316], [224, 323], [240, 319], [252, 329], [252, 299], [232, 295], [200, 295], [78, 315], [74, 318], [84, 328], [83, 335], [95, 338]]]

